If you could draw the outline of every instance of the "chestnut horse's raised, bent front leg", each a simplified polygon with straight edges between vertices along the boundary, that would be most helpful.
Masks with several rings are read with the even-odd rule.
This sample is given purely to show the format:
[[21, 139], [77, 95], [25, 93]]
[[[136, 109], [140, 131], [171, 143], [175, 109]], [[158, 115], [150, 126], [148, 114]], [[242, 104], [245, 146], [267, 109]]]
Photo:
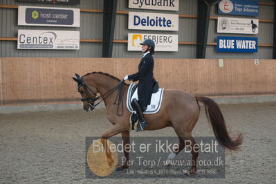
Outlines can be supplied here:
[[101, 142], [102, 142], [102, 145], [104, 146], [104, 148], [106, 148], [105, 154], [107, 156], [107, 162], [109, 163], [110, 167], [113, 165], [114, 160], [112, 158], [107, 139], [112, 136], [116, 136], [117, 134], [121, 133], [122, 131], [125, 131], [125, 127], [122, 127], [120, 125], [114, 125], [114, 127], [112, 127], [109, 131], [102, 134], [102, 136], [101, 136]]

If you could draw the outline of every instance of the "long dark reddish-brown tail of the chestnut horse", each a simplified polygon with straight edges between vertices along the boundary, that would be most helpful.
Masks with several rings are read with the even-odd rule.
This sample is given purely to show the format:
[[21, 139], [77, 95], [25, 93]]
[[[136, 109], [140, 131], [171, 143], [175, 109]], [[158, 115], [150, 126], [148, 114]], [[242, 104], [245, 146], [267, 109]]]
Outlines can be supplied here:
[[216, 136], [219, 143], [230, 150], [238, 150], [243, 142], [243, 135], [239, 134], [237, 138], [231, 138], [229, 136], [226, 129], [226, 122], [221, 113], [221, 109], [219, 109], [219, 105], [214, 100], [206, 97], [196, 96], [196, 100], [203, 102], [205, 105], [206, 116], [212, 125], [214, 136]]

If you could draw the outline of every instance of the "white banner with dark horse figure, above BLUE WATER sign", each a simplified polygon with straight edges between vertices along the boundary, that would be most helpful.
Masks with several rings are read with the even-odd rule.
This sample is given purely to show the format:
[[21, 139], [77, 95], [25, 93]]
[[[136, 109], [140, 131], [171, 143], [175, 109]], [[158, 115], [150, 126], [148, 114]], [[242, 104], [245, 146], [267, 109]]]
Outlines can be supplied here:
[[218, 17], [217, 33], [258, 34], [259, 19]]

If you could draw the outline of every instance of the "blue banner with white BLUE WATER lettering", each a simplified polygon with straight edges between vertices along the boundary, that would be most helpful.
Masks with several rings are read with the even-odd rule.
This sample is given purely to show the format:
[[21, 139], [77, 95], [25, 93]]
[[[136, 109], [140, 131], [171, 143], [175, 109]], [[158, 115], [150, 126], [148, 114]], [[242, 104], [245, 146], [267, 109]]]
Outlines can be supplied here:
[[257, 37], [217, 37], [217, 51], [230, 53], [257, 53]]

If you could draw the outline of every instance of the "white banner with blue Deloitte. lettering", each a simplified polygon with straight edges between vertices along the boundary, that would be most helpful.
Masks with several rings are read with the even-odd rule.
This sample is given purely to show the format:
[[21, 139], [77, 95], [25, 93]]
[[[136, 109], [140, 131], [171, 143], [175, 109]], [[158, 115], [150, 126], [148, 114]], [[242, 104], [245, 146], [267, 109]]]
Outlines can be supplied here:
[[129, 12], [129, 29], [178, 31], [178, 15]]

